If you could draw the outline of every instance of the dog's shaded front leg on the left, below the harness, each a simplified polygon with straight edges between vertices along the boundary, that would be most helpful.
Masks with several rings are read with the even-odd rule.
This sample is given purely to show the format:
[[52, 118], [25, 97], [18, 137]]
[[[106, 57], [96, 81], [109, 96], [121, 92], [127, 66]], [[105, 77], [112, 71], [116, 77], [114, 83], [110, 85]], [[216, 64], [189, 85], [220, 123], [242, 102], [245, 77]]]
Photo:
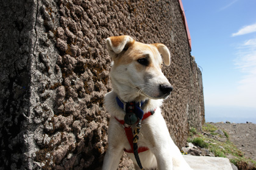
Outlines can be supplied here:
[[102, 170], [115, 170], [118, 168], [118, 164], [121, 156], [123, 155], [123, 148], [108, 146], [107, 153], [104, 157]]

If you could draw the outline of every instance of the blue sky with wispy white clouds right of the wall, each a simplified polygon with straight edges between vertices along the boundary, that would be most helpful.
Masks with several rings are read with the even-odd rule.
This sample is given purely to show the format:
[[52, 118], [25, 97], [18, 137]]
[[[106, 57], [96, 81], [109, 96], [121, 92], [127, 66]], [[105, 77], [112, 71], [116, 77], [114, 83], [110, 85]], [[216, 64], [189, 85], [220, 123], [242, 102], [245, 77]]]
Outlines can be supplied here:
[[202, 67], [206, 121], [256, 123], [256, 1], [182, 3], [191, 55]]

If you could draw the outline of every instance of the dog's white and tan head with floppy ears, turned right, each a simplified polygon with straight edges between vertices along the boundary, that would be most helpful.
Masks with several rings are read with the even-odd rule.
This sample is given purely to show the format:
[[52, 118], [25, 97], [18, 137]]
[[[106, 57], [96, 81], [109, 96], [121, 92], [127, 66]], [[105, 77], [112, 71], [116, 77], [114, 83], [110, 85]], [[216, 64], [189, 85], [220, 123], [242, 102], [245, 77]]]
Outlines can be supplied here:
[[112, 85], [124, 101], [160, 99], [171, 94], [171, 84], [162, 73], [162, 64], [170, 64], [165, 45], [143, 44], [127, 35], [112, 36], [107, 38], [107, 50], [113, 60]]

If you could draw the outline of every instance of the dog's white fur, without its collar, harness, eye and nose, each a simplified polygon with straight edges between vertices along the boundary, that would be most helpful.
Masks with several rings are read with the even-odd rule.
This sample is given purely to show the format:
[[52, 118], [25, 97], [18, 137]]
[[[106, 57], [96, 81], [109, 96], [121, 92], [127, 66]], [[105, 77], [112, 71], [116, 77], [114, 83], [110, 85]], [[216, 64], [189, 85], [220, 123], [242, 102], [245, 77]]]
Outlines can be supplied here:
[[[138, 135], [138, 147], [144, 146], [149, 148], [148, 151], [139, 154], [143, 168], [190, 170], [191, 168], [183, 159], [179, 148], [177, 148], [176, 144], [172, 141], [160, 110], [163, 98], [167, 96], [161, 95], [158, 86], [159, 84], [169, 84], [160, 69], [160, 63], [162, 63], [160, 53], [163, 55], [164, 63], [169, 65], [169, 50], [164, 45], [160, 45], [160, 47], [155, 47], [154, 49], [153, 46], [151, 46], [152, 48], [147, 48], [145, 46], [146, 44], [143, 45], [140, 42], [135, 42], [135, 45], [131, 45], [127, 52], [122, 53], [122, 48], [130, 41], [133, 41], [133, 39], [130, 38], [130, 36], [123, 36], [123, 41], [121, 40], [117, 47], [112, 47], [112, 38], [107, 39], [107, 47], [114, 61], [110, 72], [113, 90], [105, 95], [104, 100], [105, 108], [110, 113], [111, 117], [108, 126], [108, 149], [105, 154], [102, 169], [117, 169], [124, 148], [130, 149], [124, 127], [115, 119], [116, 117], [119, 120], [123, 120], [126, 114], [116, 103], [116, 97], [118, 96], [121, 100], [126, 102], [147, 100], [142, 107], [144, 112], [156, 109], [154, 115], [142, 121], [141, 131]], [[115, 62], [118, 63], [120, 57], [140, 55], [137, 51], [140, 49], [143, 51], [141, 54], [144, 55], [144, 47], [148, 50], [146, 50], [146, 53], [149, 54], [149, 61], [151, 62], [152, 68], [145, 69], [144, 66], [140, 66], [136, 60], [129, 60], [129, 63], [125, 64], [115, 64]], [[135, 50], [136, 52], [134, 52]], [[116, 55], [120, 53], [121, 55]], [[140, 72], [136, 70], [140, 70]], [[145, 80], [147, 78], [150, 80]], [[134, 155], [128, 155], [133, 160], [135, 169], [140, 169], [138, 168]]]

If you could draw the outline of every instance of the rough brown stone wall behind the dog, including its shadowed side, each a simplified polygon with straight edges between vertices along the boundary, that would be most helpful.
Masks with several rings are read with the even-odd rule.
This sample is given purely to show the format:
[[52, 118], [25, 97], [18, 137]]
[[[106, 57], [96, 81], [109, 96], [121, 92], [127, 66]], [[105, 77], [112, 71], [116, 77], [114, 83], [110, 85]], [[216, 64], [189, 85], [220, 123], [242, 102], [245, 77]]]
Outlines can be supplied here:
[[[111, 90], [105, 38], [131, 35], [171, 52], [174, 87], [163, 105], [173, 140], [204, 123], [202, 74], [179, 1], [2, 1], [0, 169], [101, 169]], [[125, 169], [124, 155], [120, 167]]]

